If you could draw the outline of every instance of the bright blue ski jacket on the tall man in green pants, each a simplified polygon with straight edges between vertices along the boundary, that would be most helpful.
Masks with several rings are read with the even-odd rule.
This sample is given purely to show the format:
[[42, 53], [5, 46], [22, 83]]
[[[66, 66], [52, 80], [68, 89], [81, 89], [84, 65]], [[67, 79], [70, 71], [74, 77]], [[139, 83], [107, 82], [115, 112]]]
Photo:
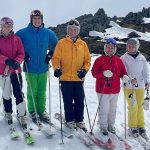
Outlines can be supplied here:
[[[16, 34], [21, 38], [24, 50], [30, 57], [27, 63], [29, 73], [46, 72], [48, 70], [48, 65], [45, 63], [47, 50], [50, 47], [50, 53], [53, 54], [58, 41], [55, 33], [44, 26], [36, 28], [29, 23], [26, 28], [19, 30]], [[23, 71], [26, 72], [25, 65]]]

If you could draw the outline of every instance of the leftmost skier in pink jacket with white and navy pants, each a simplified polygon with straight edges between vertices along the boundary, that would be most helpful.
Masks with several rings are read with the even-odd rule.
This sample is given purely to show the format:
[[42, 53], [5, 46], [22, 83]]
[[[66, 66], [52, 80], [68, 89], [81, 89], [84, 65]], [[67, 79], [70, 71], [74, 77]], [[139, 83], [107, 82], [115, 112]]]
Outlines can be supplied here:
[[0, 87], [2, 90], [5, 119], [9, 125], [12, 119], [12, 91], [16, 99], [17, 119], [26, 124], [26, 104], [22, 93], [22, 76], [20, 64], [24, 59], [24, 48], [18, 36], [13, 32], [13, 20], [4, 17], [0, 20]]

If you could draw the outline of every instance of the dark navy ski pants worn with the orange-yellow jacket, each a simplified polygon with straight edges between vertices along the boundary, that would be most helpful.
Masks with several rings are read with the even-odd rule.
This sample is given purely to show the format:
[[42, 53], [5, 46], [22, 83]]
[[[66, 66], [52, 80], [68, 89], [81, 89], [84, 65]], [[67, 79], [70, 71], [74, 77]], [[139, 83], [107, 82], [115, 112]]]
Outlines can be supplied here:
[[84, 116], [83, 82], [61, 81], [66, 122], [81, 122]]

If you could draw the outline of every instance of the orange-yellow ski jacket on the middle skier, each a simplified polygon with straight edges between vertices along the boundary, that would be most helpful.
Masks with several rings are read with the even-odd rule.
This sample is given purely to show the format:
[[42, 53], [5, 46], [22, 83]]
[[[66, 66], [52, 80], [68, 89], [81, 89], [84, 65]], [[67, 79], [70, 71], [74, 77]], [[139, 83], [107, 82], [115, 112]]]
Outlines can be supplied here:
[[91, 65], [90, 61], [87, 44], [80, 37], [75, 43], [69, 36], [59, 40], [52, 57], [54, 70], [62, 69], [61, 81], [82, 81], [77, 72], [81, 69], [88, 71]]

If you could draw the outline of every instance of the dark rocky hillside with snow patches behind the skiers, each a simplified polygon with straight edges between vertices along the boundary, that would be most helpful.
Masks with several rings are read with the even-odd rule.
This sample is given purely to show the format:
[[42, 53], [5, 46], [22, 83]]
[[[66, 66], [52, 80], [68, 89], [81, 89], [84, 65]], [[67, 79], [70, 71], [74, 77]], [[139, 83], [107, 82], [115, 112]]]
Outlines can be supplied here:
[[[100, 54], [103, 52], [104, 39], [107, 37], [114, 37], [118, 41], [118, 50], [117, 54], [120, 56], [125, 53], [126, 49], [126, 41], [129, 37], [137, 37], [140, 40], [140, 51], [146, 56], [148, 60], [150, 60], [150, 7], [143, 8], [142, 11], [139, 12], [129, 12], [125, 17], [109, 17], [103, 10], [103, 8], [98, 9], [98, 11], [93, 14], [85, 14], [76, 18], [81, 25], [80, 36], [83, 38], [89, 48], [91, 53]], [[123, 32], [119, 32], [120, 36], [117, 36], [114, 33], [115, 30], [108, 31], [113, 28], [111, 22], [115, 22], [118, 24], [120, 29], [123, 29]], [[59, 24], [57, 27], [50, 27], [55, 31], [58, 38], [63, 38], [66, 35], [66, 25]], [[126, 36], [122, 36], [125, 31], [128, 30]], [[108, 31], [107, 31], [108, 30]], [[103, 36], [90, 36], [90, 31], [96, 31]]]

